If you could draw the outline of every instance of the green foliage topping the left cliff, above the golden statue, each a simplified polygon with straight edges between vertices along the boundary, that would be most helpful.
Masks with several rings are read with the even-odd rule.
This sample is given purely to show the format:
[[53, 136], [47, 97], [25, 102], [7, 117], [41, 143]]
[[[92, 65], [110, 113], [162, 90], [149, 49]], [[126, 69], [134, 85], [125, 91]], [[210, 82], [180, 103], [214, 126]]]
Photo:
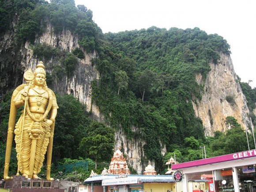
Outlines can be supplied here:
[[[55, 34], [70, 30], [77, 34], [80, 45], [88, 52], [98, 45], [102, 30], [92, 21], [92, 11], [83, 5], [75, 7], [74, 0], [8, 0], [0, 1], [0, 33], [15, 26], [15, 44], [19, 48], [29, 41], [34, 44], [36, 36], [40, 36], [50, 21]], [[46, 53], [45, 56], [48, 54]]]

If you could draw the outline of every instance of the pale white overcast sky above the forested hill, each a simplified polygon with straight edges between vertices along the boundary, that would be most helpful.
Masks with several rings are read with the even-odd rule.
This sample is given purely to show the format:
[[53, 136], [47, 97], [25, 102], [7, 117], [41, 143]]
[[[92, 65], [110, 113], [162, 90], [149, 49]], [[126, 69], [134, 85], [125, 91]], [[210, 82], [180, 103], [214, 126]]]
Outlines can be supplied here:
[[199, 27], [231, 47], [236, 74], [256, 87], [256, 0], [75, 0], [93, 11], [103, 33]]

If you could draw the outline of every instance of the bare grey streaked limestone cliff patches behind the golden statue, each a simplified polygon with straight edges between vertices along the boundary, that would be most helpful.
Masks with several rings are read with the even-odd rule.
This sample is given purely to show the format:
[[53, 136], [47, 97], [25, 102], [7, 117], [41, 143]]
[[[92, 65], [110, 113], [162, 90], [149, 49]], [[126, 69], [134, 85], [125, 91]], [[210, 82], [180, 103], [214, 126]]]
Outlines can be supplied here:
[[[26, 42], [25, 46], [20, 50], [21, 62], [15, 59], [15, 52], [9, 53], [8, 50], [11, 49], [11, 44], [13, 39], [13, 32], [8, 31], [4, 35], [4, 39], [1, 41], [1, 60], [6, 60], [1, 62], [1, 72], [6, 73], [1, 75], [1, 87], [5, 87], [8, 91], [8, 87], [13, 89], [22, 83], [22, 74], [27, 69], [34, 69], [38, 64], [38, 60], [33, 55], [32, 46], [29, 42]], [[62, 34], [56, 35], [53, 33], [53, 26], [47, 26], [45, 32], [35, 40], [36, 43], [46, 43], [51, 45], [51, 47], [59, 47], [61, 50], [72, 51], [76, 47], [79, 48], [78, 38], [72, 34], [69, 30], [64, 30]], [[5, 53], [5, 54], [4, 54]], [[53, 79], [54, 91], [60, 94], [72, 94], [74, 97], [78, 98], [80, 102], [87, 105], [87, 111], [92, 110], [95, 118], [101, 118], [98, 111], [98, 107], [91, 105], [91, 81], [94, 79], [99, 79], [99, 74], [97, 70], [91, 65], [91, 59], [95, 58], [96, 53], [86, 53], [84, 51], [84, 59], [78, 59], [78, 65], [75, 68], [71, 78], [68, 78], [64, 74], [60, 74], [62, 79]], [[9, 56], [4, 58], [4, 56]], [[10, 60], [10, 57], [13, 57]], [[18, 56], [16, 56], [18, 57]], [[12, 66], [11, 70], [6, 71], [9, 66]], [[50, 60], [45, 63], [45, 70], [50, 74], [53, 72], [52, 68], [55, 65], [60, 65], [58, 60]], [[17, 69], [18, 68], [18, 69]], [[15, 76], [13, 78], [11, 75]], [[13, 82], [15, 80], [15, 82]], [[11, 81], [11, 82], [10, 82]], [[3, 94], [3, 93], [2, 93]]]

